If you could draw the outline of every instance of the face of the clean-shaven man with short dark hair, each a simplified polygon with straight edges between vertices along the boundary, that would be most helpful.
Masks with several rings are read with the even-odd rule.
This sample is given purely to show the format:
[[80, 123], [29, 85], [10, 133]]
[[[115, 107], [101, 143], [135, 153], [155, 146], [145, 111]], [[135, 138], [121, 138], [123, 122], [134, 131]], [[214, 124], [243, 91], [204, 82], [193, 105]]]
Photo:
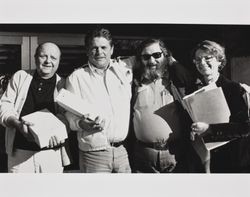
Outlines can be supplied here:
[[106, 69], [113, 54], [113, 46], [104, 37], [95, 37], [88, 47], [89, 62], [96, 68]]

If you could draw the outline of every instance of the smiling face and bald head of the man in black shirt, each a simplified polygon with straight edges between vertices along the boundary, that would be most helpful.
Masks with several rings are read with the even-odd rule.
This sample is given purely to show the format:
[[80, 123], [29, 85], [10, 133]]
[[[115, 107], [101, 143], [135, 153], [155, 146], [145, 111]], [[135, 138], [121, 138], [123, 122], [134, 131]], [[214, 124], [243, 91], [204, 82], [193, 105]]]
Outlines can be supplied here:
[[35, 62], [38, 74], [44, 78], [51, 78], [58, 69], [61, 52], [57, 45], [44, 43], [35, 55]]

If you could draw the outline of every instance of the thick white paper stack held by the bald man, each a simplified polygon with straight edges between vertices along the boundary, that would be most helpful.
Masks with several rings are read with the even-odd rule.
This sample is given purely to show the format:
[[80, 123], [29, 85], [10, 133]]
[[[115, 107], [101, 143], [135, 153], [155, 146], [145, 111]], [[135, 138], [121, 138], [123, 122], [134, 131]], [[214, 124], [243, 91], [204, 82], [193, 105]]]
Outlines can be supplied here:
[[49, 146], [53, 136], [59, 141], [68, 138], [66, 126], [47, 109], [23, 116], [22, 120], [32, 123], [29, 128], [40, 148]]

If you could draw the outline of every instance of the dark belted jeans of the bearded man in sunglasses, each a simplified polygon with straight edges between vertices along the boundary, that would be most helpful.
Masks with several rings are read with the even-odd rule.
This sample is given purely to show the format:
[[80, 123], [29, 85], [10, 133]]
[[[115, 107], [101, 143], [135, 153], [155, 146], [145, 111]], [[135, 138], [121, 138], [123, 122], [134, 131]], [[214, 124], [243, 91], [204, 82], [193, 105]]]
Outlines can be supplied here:
[[135, 144], [134, 167], [137, 173], [168, 173], [176, 166], [175, 156], [168, 150], [156, 150]]

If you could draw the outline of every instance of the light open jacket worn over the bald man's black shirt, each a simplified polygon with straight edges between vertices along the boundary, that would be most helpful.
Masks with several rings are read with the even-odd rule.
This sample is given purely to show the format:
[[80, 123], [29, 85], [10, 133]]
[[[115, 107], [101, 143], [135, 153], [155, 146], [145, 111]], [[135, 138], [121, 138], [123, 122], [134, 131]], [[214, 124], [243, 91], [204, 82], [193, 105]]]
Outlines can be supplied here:
[[[8, 84], [6, 91], [1, 97], [0, 104], [0, 123], [6, 127], [5, 132], [5, 147], [8, 154], [13, 154], [13, 144], [16, 134], [16, 129], [13, 127], [8, 127], [7, 120], [10, 116], [15, 116], [16, 118], [20, 117], [24, 102], [27, 98], [28, 89], [30, 83], [33, 79], [34, 71], [27, 72], [24, 70], [17, 71]], [[57, 97], [58, 91], [64, 87], [64, 80], [56, 74], [56, 88], [54, 90], [54, 98]], [[54, 103], [55, 104], [55, 103]], [[61, 109], [55, 104], [55, 109], [57, 113]], [[59, 114], [57, 114], [59, 115]], [[62, 117], [61, 117], [62, 119]], [[60, 148], [62, 164], [64, 166], [71, 163], [68, 151], [65, 147]]]

